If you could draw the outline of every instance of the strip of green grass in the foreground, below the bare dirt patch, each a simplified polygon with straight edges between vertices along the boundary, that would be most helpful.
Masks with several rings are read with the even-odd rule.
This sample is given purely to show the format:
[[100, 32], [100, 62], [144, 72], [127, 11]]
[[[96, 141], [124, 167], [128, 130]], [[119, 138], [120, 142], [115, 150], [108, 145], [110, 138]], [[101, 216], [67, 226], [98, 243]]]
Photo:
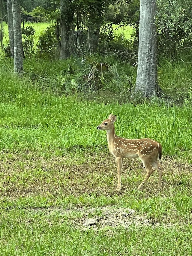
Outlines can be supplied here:
[[[57, 211], [3, 214], [1, 255], [190, 255], [191, 227], [79, 230]], [[185, 230], [185, 232], [183, 232]], [[113, 234], [113, 235], [112, 235]]]

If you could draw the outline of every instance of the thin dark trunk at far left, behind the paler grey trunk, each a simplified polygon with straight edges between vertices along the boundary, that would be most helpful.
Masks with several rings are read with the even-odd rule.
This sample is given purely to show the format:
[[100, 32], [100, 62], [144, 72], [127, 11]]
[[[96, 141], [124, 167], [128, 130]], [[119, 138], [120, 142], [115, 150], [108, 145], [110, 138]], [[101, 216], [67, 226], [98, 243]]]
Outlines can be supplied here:
[[13, 41], [13, 12], [11, 0], [7, 0], [7, 23], [9, 30], [10, 56], [14, 57], [14, 41]]

